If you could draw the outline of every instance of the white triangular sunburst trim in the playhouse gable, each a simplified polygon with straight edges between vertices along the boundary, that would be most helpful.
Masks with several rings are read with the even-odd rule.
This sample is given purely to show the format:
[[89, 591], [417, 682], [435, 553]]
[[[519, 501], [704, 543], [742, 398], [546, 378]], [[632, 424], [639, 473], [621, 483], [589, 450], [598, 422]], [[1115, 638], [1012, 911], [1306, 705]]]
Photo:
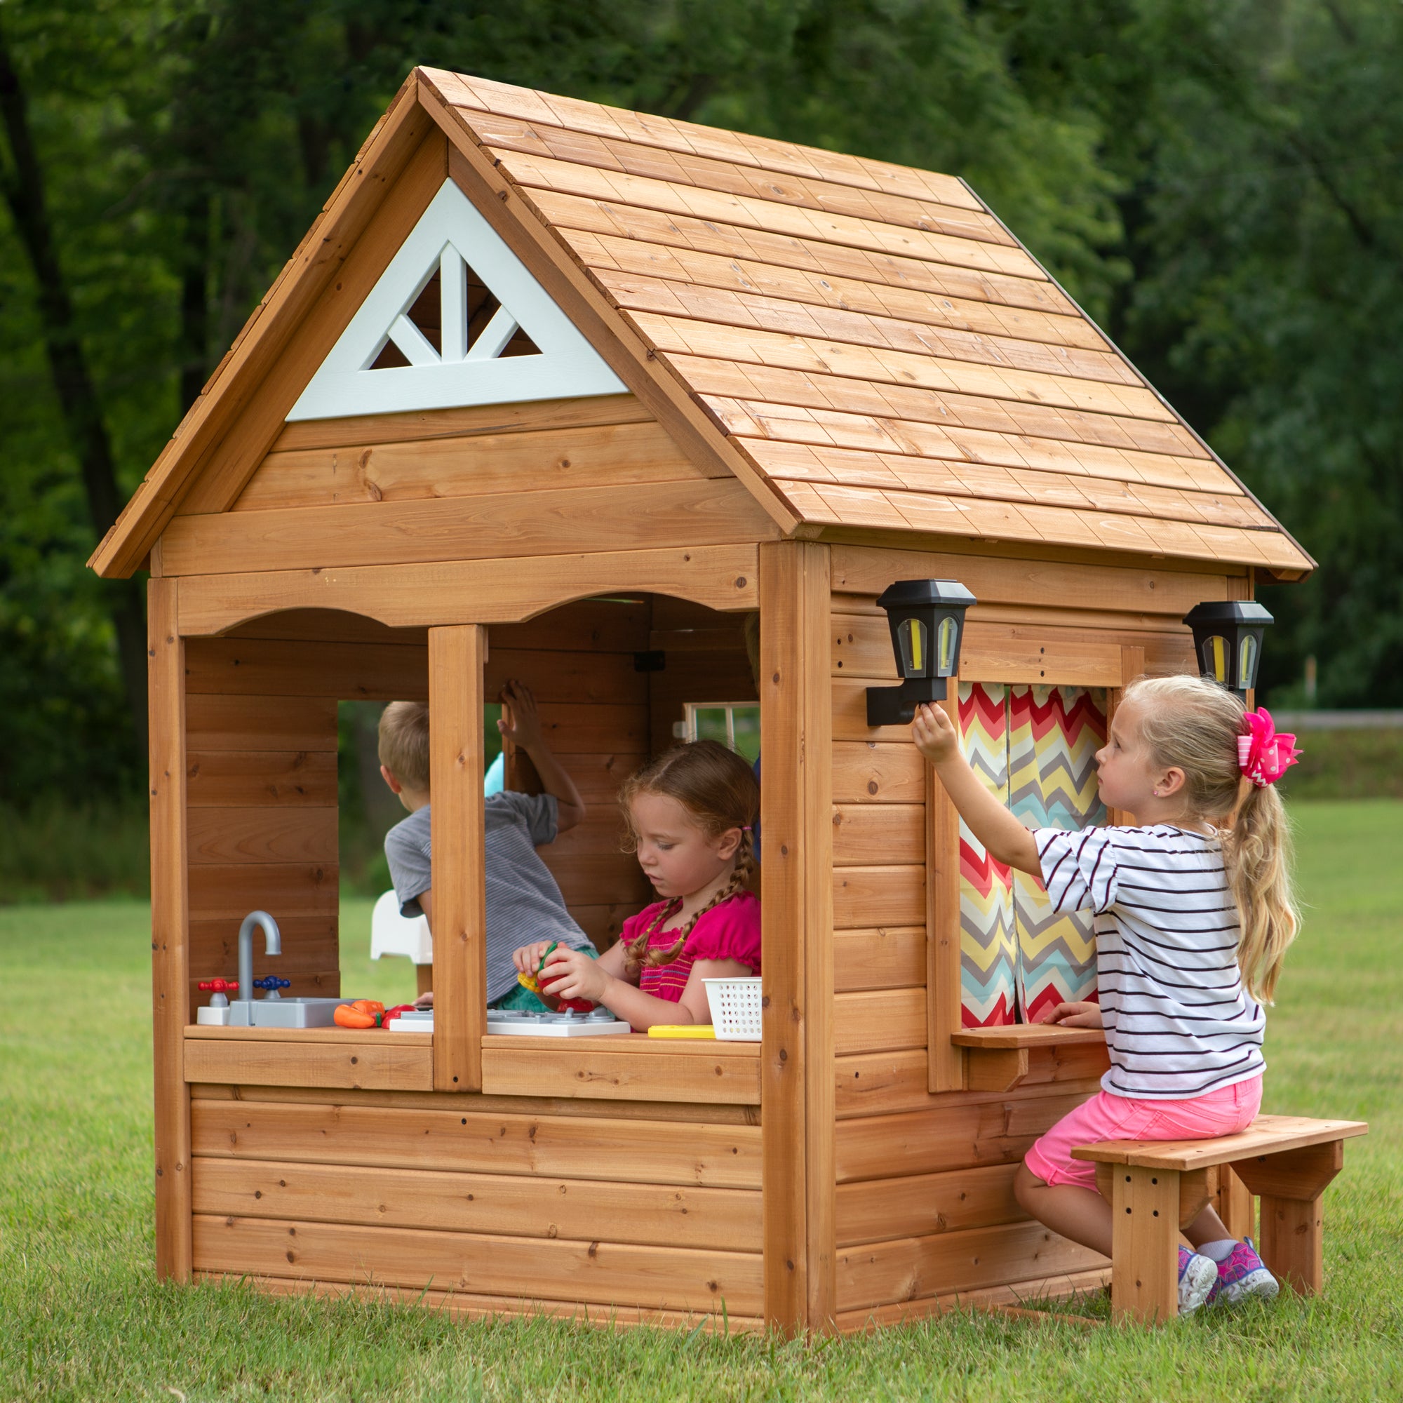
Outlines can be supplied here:
[[[464, 264], [501, 303], [470, 347]], [[407, 316], [436, 272], [442, 272], [442, 355]], [[539, 347], [539, 355], [502, 358], [518, 327]], [[386, 341], [393, 341], [410, 363], [372, 370]], [[288, 418], [334, 419], [624, 390], [473, 202], [446, 180]]]

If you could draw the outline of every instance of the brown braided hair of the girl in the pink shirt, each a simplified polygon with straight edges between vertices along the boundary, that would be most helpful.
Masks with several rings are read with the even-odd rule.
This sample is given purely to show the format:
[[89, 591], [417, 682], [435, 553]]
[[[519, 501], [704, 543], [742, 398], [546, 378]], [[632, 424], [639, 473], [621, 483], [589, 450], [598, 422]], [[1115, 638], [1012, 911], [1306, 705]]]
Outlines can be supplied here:
[[710, 838], [720, 838], [732, 828], [741, 829], [741, 843], [735, 850], [735, 867], [725, 885], [678, 932], [676, 940], [659, 950], [650, 950], [648, 941], [666, 926], [682, 905], [676, 897], [664, 904], [662, 911], [624, 948], [624, 968], [634, 975], [643, 965], [671, 964], [682, 954], [687, 936], [696, 923], [723, 902], [745, 890], [755, 871], [755, 840], [751, 832], [760, 807], [760, 790], [749, 765], [734, 751], [716, 741], [693, 741], [678, 745], [633, 774], [619, 793], [619, 803], [629, 824], [626, 850], [636, 850], [633, 832], [633, 800], [640, 794], [661, 794], [675, 798], [697, 821]]

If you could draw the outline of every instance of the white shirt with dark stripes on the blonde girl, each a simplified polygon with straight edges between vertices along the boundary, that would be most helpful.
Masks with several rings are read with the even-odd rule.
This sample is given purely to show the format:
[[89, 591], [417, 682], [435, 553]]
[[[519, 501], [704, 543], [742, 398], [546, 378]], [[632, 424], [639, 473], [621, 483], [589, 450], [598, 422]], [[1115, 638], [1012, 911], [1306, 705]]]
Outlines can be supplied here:
[[1187, 1100], [1260, 1076], [1266, 1012], [1242, 985], [1216, 836], [1169, 824], [1033, 835], [1056, 911], [1093, 911], [1111, 1069], [1101, 1089]]

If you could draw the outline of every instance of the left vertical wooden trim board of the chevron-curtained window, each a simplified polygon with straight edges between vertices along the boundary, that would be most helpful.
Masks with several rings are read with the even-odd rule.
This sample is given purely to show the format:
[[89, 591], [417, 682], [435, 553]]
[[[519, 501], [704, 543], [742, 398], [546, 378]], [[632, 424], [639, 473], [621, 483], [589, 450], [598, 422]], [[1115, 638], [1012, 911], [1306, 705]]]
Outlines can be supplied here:
[[[960, 678], [940, 703], [960, 730]], [[960, 1031], [960, 815], [946, 787], [926, 765], [926, 1061], [930, 1092], [965, 1087], [965, 1049], [950, 1038]], [[1027, 1076], [1024, 1058], [1020, 1080]], [[996, 1087], [1006, 1090], [1006, 1087]]]

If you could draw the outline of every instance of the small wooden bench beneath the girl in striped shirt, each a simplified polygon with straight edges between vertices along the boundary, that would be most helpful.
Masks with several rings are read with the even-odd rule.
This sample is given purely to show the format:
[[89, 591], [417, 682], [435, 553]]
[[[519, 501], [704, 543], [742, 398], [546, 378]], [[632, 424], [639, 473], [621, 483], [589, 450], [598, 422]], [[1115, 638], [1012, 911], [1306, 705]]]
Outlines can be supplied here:
[[[1320, 1195], [1344, 1164], [1344, 1142], [1364, 1121], [1258, 1115], [1239, 1135], [1207, 1141], [1101, 1141], [1072, 1150], [1096, 1160], [1096, 1187], [1111, 1205], [1111, 1317], [1169, 1320], [1179, 1315], [1179, 1229], [1232, 1183], [1261, 1200], [1257, 1250], [1282, 1285], [1322, 1285]], [[1232, 1214], [1239, 1218], [1239, 1214]], [[1242, 1236], [1246, 1223], [1228, 1222]], [[1226, 1221], [1226, 1219], [1225, 1219]]]

